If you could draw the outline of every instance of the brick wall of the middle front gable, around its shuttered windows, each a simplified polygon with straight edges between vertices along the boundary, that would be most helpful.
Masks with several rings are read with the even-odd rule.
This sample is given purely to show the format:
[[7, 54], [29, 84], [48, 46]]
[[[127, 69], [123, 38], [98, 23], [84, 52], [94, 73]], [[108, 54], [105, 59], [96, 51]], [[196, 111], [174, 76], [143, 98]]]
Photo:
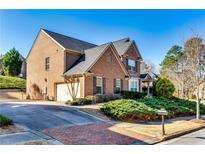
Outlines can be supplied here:
[[[112, 61], [108, 58], [112, 55]], [[85, 96], [93, 95], [93, 76], [100, 76], [106, 79], [106, 94], [113, 94], [114, 91], [114, 79], [123, 80], [123, 89], [127, 89], [127, 81], [125, 79], [125, 73], [123, 72], [119, 62], [117, 61], [113, 49], [109, 47], [101, 58], [90, 69], [93, 75], [85, 77]]]

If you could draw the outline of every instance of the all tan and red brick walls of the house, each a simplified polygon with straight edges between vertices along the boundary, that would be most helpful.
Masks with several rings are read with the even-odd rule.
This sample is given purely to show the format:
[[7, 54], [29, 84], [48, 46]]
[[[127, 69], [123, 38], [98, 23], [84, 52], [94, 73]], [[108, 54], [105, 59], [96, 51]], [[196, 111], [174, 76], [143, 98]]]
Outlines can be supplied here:
[[[115, 57], [114, 49], [109, 46], [97, 62], [90, 68], [89, 73], [79, 77], [80, 97], [93, 95], [93, 76], [100, 76], [106, 79], [106, 94], [113, 94], [114, 79], [123, 80], [123, 90], [128, 90], [128, 80], [125, 79], [125, 72]], [[111, 56], [111, 60], [110, 60]], [[118, 56], [118, 55], [117, 55]], [[45, 59], [49, 57], [50, 68], [45, 70]], [[43, 92], [47, 91], [47, 99], [56, 100], [56, 87], [59, 83], [65, 83], [63, 74], [80, 57], [79, 53], [65, 51], [61, 45], [55, 42], [44, 31], [40, 31], [32, 49], [27, 57], [27, 85], [26, 93], [30, 99], [44, 99]], [[139, 55], [134, 44], [122, 56], [126, 66], [126, 58], [138, 61]], [[120, 56], [118, 57], [120, 59]], [[140, 74], [129, 72], [130, 74]], [[46, 89], [46, 90], [45, 90]]]

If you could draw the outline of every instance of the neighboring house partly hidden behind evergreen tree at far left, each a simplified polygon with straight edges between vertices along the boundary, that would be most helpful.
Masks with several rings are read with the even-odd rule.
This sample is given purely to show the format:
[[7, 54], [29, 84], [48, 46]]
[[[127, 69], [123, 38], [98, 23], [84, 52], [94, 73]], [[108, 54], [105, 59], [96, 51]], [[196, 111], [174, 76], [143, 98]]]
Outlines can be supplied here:
[[[26, 59], [22, 55], [20, 55], [20, 57], [21, 57], [21, 60], [23, 61], [23, 63], [21, 66], [21, 72], [18, 76], [26, 79]], [[3, 72], [4, 72], [3, 66], [2, 66], [2, 60], [3, 60], [3, 55], [0, 55], [0, 73], [1, 74], [3, 74]]]

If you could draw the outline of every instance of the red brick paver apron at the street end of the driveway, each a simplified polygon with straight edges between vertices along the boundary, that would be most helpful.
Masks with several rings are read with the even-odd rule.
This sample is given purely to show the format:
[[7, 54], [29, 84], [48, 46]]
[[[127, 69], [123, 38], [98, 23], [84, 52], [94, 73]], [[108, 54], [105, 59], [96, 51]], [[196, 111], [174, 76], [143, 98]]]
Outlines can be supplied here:
[[[43, 130], [49, 136], [54, 137], [64, 144], [79, 145], [105, 145], [118, 144], [127, 145], [136, 142], [135, 138], [122, 135], [116, 131], [109, 130], [111, 124], [88, 124], [64, 128], [53, 128]], [[142, 138], [142, 136], [140, 136]], [[146, 138], [146, 137], [145, 137]]]

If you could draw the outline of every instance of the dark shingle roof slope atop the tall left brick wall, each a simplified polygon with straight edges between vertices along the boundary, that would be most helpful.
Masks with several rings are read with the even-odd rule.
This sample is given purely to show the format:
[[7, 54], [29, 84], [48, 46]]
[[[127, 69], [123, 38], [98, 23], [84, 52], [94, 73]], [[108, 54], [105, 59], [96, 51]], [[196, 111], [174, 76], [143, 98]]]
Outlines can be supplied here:
[[71, 49], [75, 51], [82, 52], [86, 49], [93, 48], [96, 45], [92, 43], [88, 43], [82, 40], [78, 40], [69, 36], [65, 36], [62, 34], [58, 34], [55, 32], [51, 32], [46, 29], [42, 29], [46, 32], [50, 37], [52, 37], [55, 41], [57, 41], [60, 45], [62, 45], [65, 49]]

